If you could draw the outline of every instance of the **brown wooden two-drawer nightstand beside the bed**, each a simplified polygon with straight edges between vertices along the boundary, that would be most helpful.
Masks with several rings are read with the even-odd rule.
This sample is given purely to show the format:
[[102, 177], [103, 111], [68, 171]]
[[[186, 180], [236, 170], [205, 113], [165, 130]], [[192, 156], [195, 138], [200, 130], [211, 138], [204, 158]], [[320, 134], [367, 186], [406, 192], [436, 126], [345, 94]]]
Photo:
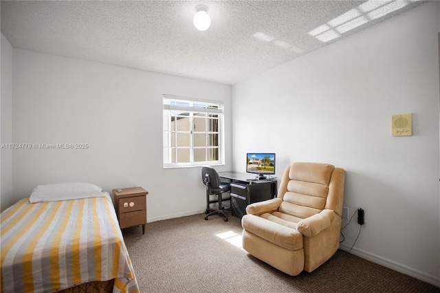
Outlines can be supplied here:
[[145, 234], [147, 194], [142, 187], [113, 189], [113, 204], [121, 229], [142, 225], [142, 235]]

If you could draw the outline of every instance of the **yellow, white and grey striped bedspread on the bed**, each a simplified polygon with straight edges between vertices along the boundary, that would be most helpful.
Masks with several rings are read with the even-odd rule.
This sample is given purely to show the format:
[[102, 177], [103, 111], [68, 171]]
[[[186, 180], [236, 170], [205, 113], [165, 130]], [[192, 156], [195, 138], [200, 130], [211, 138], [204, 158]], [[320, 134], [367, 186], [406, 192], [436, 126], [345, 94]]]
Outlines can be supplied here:
[[139, 292], [109, 196], [22, 199], [0, 221], [1, 292], [54, 292], [111, 279], [113, 292]]

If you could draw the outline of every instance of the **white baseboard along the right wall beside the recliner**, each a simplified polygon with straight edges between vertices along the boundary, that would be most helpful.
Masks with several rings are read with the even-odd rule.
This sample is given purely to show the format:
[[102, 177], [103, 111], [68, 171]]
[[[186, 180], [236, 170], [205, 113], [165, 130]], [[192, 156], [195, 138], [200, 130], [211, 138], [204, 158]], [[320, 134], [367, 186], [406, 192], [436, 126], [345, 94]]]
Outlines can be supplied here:
[[[340, 243], [340, 249], [349, 251], [351, 246], [347, 244]], [[358, 257], [362, 257], [362, 259], [366, 259], [372, 261], [373, 263], [377, 263], [379, 265], [383, 265], [386, 268], [391, 268], [397, 272], [401, 272], [402, 274], [407, 274], [408, 276], [412, 276], [416, 279], [424, 281], [426, 283], [430, 283], [434, 286], [440, 287], [440, 278], [439, 276], [432, 276], [431, 274], [426, 274], [425, 272], [421, 272], [419, 270], [415, 270], [413, 268], [408, 267], [407, 265], [402, 265], [401, 263], [397, 263], [395, 261], [391, 261], [390, 259], [385, 259], [384, 257], [380, 257], [377, 254], [373, 254], [371, 252], [353, 248], [351, 252]]]

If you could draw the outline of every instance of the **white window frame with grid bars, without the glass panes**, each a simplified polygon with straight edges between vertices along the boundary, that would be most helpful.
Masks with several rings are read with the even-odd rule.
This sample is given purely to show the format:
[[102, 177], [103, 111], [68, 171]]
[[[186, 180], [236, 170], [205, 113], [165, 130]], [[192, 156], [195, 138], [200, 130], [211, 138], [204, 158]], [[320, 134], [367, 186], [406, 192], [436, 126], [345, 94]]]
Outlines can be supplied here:
[[[162, 127], [162, 164], [164, 169], [169, 168], [181, 168], [181, 167], [192, 167], [192, 166], [206, 166], [206, 165], [221, 165], [224, 164], [224, 149], [225, 149], [225, 142], [224, 142], [224, 103], [223, 101], [218, 100], [206, 100], [206, 99], [200, 99], [200, 98], [188, 98], [188, 97], [181, 97], [181, 96], [173, 96], [173, 95], [167, 95], [164, 94], [162, 98], [163, 102], [163, 127]], [[179, 115], [172, 115], [173, 111], [181, 111]], [[205, 122], [206, 122], [206, 129], [204, 132], [206, 133], [206, 143], [204, 146], [195, 146], [195, 136], [196, 134], [200, 134], [199, 131], [195, 131], [191, 127], [191, 125], [194, 125], [194, 122], [190, 122], [193, 118], [197, 117], [195, 116], [197, 113], [206, 113], [207, 116], [205, 116]], [[184, 115], [182, 115], [184, 114]], [[177, 131], [177, 126], [175, 126], [175, 129], [171, 129], [172, 125], [172, 119], [171, 117], [176, 118], [177, 117], [184, 117], [188, 115], [188, 127], [190, 128], [188, 131]], [[208, 116], [214, 115], [218, 116], [218, 132], [216, 131], [208, 131], [208, 119], [210, 119]], [[177, 135], [177, 133], [188, 133], [190, 135], [189, 138], [189, 146], [181, 146], [178, 147], [177, 145], [172, 144], [172, 135]], [[218, 146], [210, 146], [208, 143], [208, 134], [218, 134]], [[175, 137], [176, 138], [176, 137]], [[177, 152], [177, 149], [189, 149], [189, 162], [172, 162], [173, 160], [173, 153], [172, 151]], [[205, 160], [204, 161], [195, 161], [194, 153], [197, 149], [205, 149]], [[208, 160], [208, 149], [218, 149], [218, 160]]]

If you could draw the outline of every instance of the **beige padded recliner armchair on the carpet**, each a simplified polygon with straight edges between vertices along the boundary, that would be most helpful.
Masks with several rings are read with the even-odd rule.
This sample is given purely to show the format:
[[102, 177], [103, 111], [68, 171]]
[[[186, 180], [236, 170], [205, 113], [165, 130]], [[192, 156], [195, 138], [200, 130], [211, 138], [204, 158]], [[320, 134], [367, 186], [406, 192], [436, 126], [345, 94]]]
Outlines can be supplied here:
[[329, 164], [288, 166], [278, 197], [246, 208], [243, 248], [291, 276], [318, 268], [339, 248], [344, 180]]

